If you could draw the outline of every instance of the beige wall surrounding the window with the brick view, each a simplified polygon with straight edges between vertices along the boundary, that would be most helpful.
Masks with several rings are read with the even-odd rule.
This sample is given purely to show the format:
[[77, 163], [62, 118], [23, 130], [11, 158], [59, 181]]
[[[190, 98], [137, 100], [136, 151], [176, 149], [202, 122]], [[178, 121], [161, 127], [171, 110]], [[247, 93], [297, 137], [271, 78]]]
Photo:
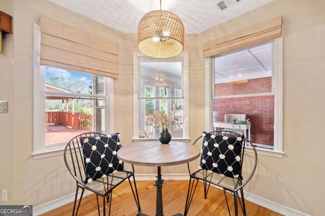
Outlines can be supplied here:
[[[319, 184], [324, 177], [325, 2], [275, 0], [200, 34], [204, 42], [282, 16], [283, 158], [260, 155], [257, 173], [246, 190], [310, 215], [325, 210]], [[200, 55], [199, 55], [200, 56]], [[199, 60], [202, 62], [202, 60]], [[202, 93], [203, 94], [203, 93]]]

